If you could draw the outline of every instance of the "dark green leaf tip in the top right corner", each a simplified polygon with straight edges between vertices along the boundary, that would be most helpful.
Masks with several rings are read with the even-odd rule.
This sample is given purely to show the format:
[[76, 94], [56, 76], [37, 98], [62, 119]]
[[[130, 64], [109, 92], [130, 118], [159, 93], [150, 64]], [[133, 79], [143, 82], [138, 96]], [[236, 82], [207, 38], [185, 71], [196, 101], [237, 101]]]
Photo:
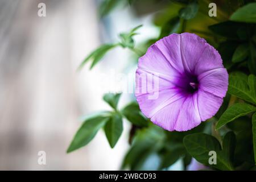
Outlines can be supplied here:
[[256, 3], [249, 3], [232, 14], [230, 20], [236, 22], [256, 23]]

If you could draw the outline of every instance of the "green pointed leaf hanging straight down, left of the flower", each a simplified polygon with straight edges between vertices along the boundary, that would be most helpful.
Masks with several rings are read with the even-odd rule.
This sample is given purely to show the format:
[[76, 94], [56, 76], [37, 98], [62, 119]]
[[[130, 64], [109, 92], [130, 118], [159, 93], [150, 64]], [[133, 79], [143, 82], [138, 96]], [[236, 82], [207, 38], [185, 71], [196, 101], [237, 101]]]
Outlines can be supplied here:
[[123, 131], [122, 115], [113, 113], [104, 129], [110, 147], [114, 148]]

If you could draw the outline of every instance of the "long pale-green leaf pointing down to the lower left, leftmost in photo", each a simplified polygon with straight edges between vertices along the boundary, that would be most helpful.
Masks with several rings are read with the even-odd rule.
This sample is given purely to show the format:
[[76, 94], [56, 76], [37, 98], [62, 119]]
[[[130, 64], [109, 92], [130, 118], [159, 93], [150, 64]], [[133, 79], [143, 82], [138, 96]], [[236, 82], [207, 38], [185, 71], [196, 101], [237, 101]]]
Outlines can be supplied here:
[[90, 118], [82, 123], [82, 126], [77, 131], [75, 137], [73, 138], [67, 152], [72, 152], [88, 144], [92, 140], [97, 131], [105, 125], [109, 118], [98, 116]]

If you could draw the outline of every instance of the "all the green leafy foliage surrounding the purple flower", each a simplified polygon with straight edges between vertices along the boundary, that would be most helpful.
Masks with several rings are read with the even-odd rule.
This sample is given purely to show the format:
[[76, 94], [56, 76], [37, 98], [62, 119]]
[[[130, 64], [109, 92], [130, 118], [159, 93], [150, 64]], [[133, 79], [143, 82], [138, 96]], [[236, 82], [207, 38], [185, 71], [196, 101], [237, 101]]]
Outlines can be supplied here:
[[[141, 3], [139, 3], [141, 2]], [[159, 9], [157, 3], [162, 3]], [[228, 1], [217, 4], [217, 17], [208, 16], [208, 3], [195, 0], [115, 1], [104, 0], [101, 17], [115, 7], [129, 5], [131, 12], [141, 15], [150, 12], [160, 32], [138, 47], [134, 40], [141, 26], [118, 35], [116, 43], [103, 44], [88, 55], [80, 69], [90, 62], [90, 69], [116, 47], [126, 48], [142, 56], [157, 40], [172, 33], [192, 32], [216, 47], [229, 73], [228, 93], [217, 114], [195, 129], [185, 132], [165, 131], [146, 118], [136, 101], [118, 107], [121, 94], [105, 94], [103, 100], [112, 108], [84, 118], [67, 152], [85, 146], [104, 129], [110, 147], [115, 147], [123, 122], [131, 125], [131, 144], [122, 169], [168, 170], [182, 160], [184, 169], [192, 158], [217, 170], [254, 170], [256, 163], [256, 19], [255, 4], [251, 1]], [[137, 7], [137, 5], [143, 5]], [[153, 5], [153, 6], [147, 6]], [[155, 7], [154, 7], [155, 6]], [[142, 10], [147, 9], [146, 11]], [[143, 13], [143, 15], [147, 15]], [[230, 17], [230, 18], [229, 18]], [[139, 49], [138, 49], [139, 48]], [[141, 51], [142, 50], [142, 51]], [[250, 75], [249, 75], [250, 74]], [[207, 106], [207, 103], [206, 103]], [[128, 142], [128, 141], [127, 141]], [[209, 151], [216, 151], [217, 164], [210, 165]]]

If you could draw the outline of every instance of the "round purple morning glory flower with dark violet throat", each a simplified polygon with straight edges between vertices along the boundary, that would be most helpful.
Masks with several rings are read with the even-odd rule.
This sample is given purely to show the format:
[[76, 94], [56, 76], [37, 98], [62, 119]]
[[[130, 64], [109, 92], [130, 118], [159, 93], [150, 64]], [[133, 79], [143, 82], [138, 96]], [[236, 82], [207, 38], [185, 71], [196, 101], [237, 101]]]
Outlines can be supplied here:
[[227, 90], [220, 54], [195, 34], [171, 34], [139, 59], [135, 96], [142, 113], [163, 129], [187, 131], [213, 117]]

